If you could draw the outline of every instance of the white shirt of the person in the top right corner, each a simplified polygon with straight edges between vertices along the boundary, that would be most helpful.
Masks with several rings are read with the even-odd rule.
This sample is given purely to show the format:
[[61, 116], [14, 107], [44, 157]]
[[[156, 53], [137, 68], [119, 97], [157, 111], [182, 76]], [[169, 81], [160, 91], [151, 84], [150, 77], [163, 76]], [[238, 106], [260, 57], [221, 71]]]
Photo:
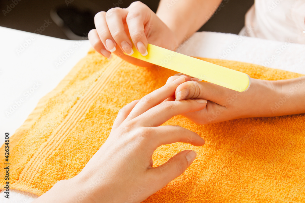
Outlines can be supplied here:
[[305, 44], [305, 0], [255, 0], [239, 34]]

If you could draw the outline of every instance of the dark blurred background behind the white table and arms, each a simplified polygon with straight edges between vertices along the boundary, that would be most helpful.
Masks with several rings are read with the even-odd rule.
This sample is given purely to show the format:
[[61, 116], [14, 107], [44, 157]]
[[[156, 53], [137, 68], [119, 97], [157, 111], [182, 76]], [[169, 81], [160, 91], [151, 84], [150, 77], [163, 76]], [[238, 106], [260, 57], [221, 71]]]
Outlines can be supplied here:
[[[115, 5], [126, 8], [131, 2], [134, 2], [132, 0], [121, 1], [123, 3], [119, 5], [119, 0], [0, 0], [0, 26], [33, 33], [43, 26], [46, 20], [51, 23], [40, 34], [62, 39], [75, 39], [67, 34], [63, 27], [66, 27], [66, 30], [69, 27], [74, 34], [76, 33], [76, 36], [86, 35], [94, 26], [95, 13], [107, 11]], [[16, 5], [12, 5], [13, 2]], [[142, 0], [141, 2], [148, 5], [154, 12], [159, 4], [159, 0]], [[199, 31], [239, 33], [244, 25], [244, 16], [253, 5], [254, 0], [225, 0], [222, 3], [224, 6], [218, 8], [215, 15]], [[71, 9], [74, 11], [71, 12]], [[8, 12], [4, 14], [3, 10]], [[51, 11], [65, 19], [65, 23], [54, 21], [54, 18], [50, 16]], [[67, 22], [70, 23], [67, 24]]]

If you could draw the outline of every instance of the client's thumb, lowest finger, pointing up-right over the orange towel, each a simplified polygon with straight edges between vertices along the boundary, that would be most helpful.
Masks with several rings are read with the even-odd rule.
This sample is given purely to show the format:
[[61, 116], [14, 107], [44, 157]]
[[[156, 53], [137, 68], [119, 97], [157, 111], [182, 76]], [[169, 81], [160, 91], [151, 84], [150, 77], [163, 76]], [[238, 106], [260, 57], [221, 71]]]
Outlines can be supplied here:
[[185, 150], [171, 157], [166, 163], [148, 170], [149, 176], [156, 181], [156, 190], [160, 190], [170, 181], [180, 176], [196, 159], [196, 152]]

